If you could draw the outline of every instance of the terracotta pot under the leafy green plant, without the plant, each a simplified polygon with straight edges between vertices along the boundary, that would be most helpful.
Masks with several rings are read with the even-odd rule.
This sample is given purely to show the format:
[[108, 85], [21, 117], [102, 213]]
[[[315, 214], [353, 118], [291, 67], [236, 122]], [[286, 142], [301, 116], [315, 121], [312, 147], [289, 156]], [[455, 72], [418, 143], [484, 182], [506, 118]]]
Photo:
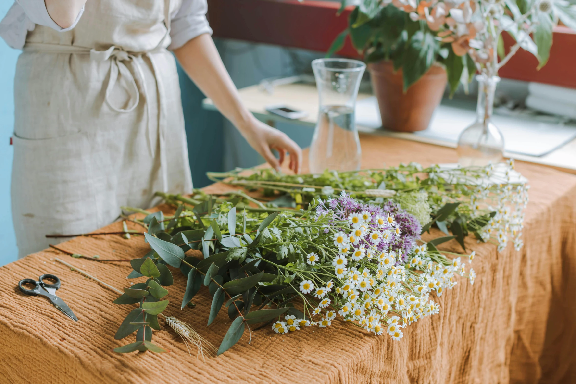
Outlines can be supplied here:
[[392, 62], [368, 64], [372, 89], [378, 99], [382, 127], [393, 131], [415, 132], [428, 127], [434, 109], [446, 88], [446, 70], [433, 65], [406, 93], [403, 93], [402, 69], [394, 73]]

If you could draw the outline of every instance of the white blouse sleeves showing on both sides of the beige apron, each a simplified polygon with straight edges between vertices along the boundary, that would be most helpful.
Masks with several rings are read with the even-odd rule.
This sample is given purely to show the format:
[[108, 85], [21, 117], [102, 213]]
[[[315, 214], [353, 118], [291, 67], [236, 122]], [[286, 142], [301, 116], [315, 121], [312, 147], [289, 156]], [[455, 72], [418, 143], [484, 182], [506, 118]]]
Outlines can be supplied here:
[[[206, 20], [207, 10], [206, 0], [183, 0], [180, 9], [170, 15], [172, 43], [168, 47], [169, 50], [180, 48], [188, 40], [203, 33], [212, 33]], [[0, 22], [0, 37], [10, 47], [21, 50], [26, 42], [26, 34], [28, 31], [33, 31], [36, 24], [49, 26], [60, 32], [70, 31], [80, 20], [82, 13], [84, 7], [78, 13], [74, 24], [69, 28], [61, 28], [48, 14], [44, 0], [15, 0]]]

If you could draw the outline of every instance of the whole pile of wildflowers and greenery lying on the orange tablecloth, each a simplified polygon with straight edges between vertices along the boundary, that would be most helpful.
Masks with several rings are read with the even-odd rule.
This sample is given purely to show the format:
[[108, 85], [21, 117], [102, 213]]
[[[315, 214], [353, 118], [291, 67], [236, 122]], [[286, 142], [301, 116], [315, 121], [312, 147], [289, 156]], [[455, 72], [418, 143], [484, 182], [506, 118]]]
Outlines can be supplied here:
[[[412, 164], [282, 181], [235, 179], [264, 185], [272, 190], [269, 196], [283, 189], [278, 199], [294, 208], [278, 208], [278, 199], [264, 204], [242, 191], [220, 197], [201, 191], [191, 197], [161, 194], [177, 209], [171, 217], [155, 212], [142, 221], [151, 250], [131, 261], [128, 278], [147, 280], [124, 288], [115, 301], [139, 303], [116, 333], [122, 339], [137, 331], [137, 341], [116, 351], [164, 351], [150, 343], [151, 329], [160, 329], [158, 316], [166, 324], [184, 324], [163, 313], [164, 287], [174, 282], [167, 265], [185, 276], [182, 309], [206, 286], [212, 296], [207, 325], [222, 308], [228, 313], [232, 324], [218, 354], [246, 328], [251, 334], [253, 324], [272, 323], [274, 332], [287, 333], [340, 319], [400, 340], [407, 326], [438, 313], [437, 298], [458, 283], [457, 275], [474, 283], [476, 274], [466, 267], [475, 253], [445, 252], [439, 244], [462, 236], [464, 246], [469, 230], [479, 241], [498, 239], [502, 249], [507, 233], [520, 235], [527, 187], [503, 167]], [[292, 180], [297, 177], [302, 183]], [[433, 223], [440, 229], [450, 225], [454, 235], [423, 241], [420, 234]], [[187, 256], [190, 249], [201, 251], [202, 258]], [[179, 334], [202, 345], [191, 327]]]

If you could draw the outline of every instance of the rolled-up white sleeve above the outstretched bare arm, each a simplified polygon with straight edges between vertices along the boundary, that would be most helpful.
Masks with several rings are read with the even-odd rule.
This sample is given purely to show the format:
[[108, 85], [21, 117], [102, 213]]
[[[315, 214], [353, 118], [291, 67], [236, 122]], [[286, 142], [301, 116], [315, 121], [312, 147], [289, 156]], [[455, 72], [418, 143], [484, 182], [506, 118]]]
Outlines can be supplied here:
[[212, 29], [206, 20], [207, 11], [206, 0], [183, 0], [180, 10], [170, 21], [172, 43], [168, 49], [176, 50], [186, 44], [188, 40], [203, 33], [210, 33], [211, 35]]

